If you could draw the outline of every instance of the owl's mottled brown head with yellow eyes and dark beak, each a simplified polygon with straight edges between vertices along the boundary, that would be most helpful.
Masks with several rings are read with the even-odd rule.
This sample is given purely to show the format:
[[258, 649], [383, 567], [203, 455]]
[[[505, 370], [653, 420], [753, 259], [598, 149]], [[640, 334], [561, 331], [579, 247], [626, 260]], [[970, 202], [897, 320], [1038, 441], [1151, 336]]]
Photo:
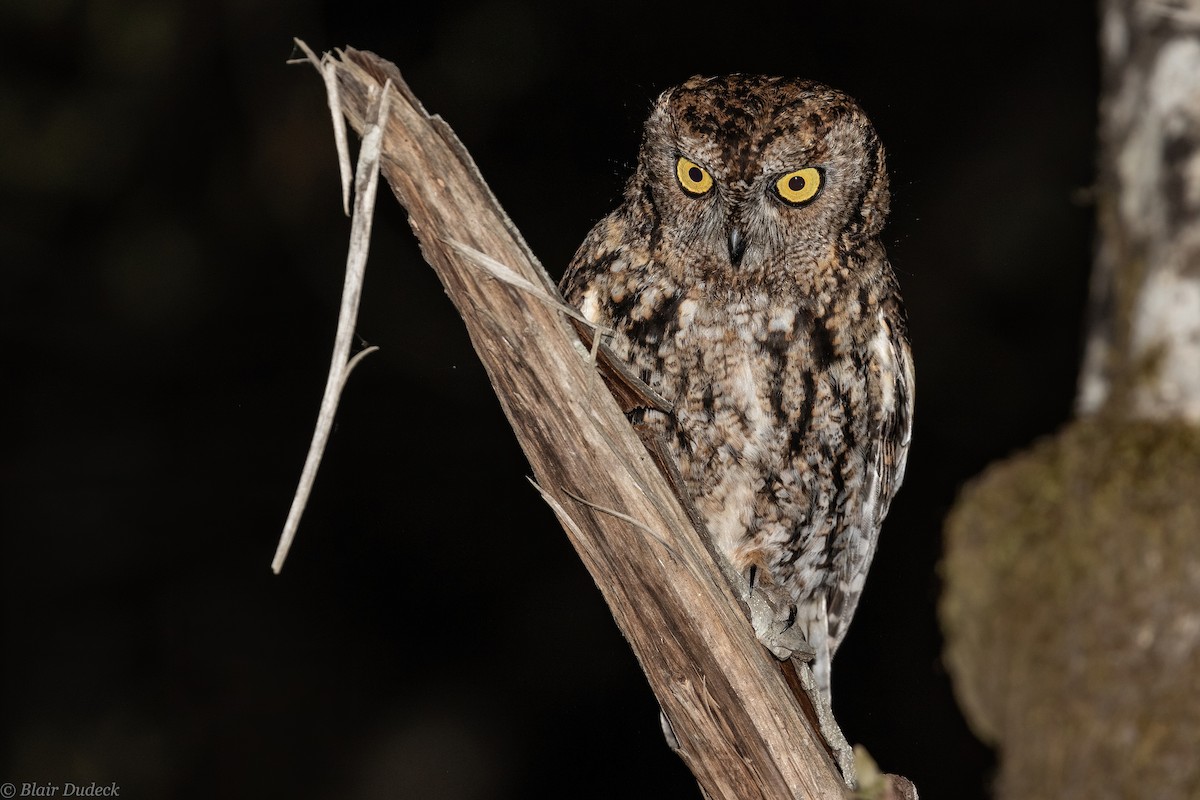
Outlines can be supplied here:
[[695, 77], [664, 92], [630, 191], [653, 199], [660, 252], [734, 281], [845, 271], [847, 255], [878, 246], [888, 212], [883, 148], [858, 104], [761, 76]]

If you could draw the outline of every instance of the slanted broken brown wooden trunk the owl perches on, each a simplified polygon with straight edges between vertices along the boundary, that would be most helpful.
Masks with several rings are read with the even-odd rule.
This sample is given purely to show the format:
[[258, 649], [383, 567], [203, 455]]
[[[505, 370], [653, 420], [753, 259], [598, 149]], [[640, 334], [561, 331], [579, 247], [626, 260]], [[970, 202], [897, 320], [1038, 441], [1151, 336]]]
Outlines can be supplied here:
[[[704, 795], [842, 798], [842, 781], [780, 664], [755, 638], [706, 540], [556, 306], [553, 282], [467, 151], [392, 65], [356, 50], [335, 65], [342, 110], [360, 132], [391, 82], [383, 175]], [[498, 279], [504, 267], [511, 273]]]

